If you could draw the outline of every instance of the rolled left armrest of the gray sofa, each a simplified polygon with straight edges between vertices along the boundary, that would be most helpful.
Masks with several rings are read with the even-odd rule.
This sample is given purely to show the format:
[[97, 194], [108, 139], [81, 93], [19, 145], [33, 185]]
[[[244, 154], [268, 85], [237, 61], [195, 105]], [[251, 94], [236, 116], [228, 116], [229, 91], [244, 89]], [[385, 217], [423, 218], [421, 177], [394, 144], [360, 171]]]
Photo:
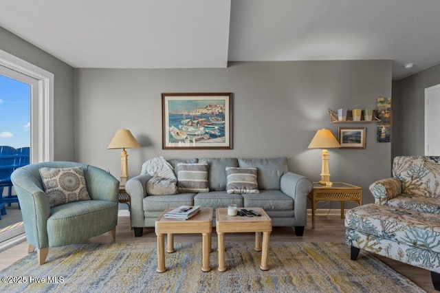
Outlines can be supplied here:
[[130, 195], [130, 216], [132, 227], [144, 227], [144, 197], [146, 193], [146, 182], [151, 179], [149, 174], [141, 174], [130, 178], [125, 183], [125, 191]]

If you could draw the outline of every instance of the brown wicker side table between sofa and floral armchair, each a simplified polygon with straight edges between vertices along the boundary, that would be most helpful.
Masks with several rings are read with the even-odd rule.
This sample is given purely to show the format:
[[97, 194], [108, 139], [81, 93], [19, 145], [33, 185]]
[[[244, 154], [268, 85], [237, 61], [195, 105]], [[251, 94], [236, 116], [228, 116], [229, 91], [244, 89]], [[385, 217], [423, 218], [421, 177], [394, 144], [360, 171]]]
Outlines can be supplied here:
[[340, 202], [341, 219], [344, 219], [344, 203], [356, 202], [362, 205], [362, 188], [344, 182], [333, 182], [332, 186], [314, 182], [314, 189], [307, 195], [311, 201], [311, 228], [315, 228], [315, 212], [318, 202]]

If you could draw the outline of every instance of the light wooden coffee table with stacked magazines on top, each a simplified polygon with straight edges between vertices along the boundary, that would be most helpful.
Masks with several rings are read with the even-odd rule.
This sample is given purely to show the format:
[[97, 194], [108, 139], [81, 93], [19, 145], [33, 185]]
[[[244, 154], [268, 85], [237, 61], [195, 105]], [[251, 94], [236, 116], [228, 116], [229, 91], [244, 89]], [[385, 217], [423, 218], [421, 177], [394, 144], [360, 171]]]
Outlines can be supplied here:
[[202, 235], [202, 261], [201, 270], [209, 272], [209, 252], [211, 251], [211, 232], [212, 232], [212, 208], [201, 208], [200, 213], [186, 221], [167, 219], [164, 217], [168, 211], [164, 210], [155, 221], [155, 232], [157, 235], [157, 272], [165, 272], [165, 234], [167, 235], [166, 252], [174, 252], [173, 234], [201, 233]]

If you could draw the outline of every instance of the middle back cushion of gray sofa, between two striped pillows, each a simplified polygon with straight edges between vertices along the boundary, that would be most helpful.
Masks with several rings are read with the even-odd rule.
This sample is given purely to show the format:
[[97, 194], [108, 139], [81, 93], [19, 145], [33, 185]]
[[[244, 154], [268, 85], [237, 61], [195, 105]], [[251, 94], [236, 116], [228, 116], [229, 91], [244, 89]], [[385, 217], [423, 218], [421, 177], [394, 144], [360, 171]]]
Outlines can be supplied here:
[[207, 162], [209, 165], [208, 178], [210, 191], [226, 190], [226, 167], [238, 167], [236, 158], [208, 158], [199, 159], [199, 163]]

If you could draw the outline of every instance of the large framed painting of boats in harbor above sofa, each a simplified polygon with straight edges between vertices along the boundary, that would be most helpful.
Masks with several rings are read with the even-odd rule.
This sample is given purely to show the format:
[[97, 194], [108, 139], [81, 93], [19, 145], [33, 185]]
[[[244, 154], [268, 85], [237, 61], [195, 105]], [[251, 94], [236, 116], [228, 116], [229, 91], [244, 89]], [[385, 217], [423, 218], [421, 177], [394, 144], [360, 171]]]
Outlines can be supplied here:
[[232, 93], [162, 93], [162, 149], [232, 149]]

